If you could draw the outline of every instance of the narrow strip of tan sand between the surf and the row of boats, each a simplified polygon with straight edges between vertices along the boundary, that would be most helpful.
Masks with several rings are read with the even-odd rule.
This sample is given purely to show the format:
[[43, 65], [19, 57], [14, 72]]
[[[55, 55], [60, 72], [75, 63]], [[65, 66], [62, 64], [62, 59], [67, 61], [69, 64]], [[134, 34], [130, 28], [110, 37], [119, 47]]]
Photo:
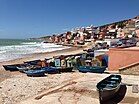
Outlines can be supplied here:
[[23, 63], [24, 61], [29, 61], [29, 60], [35, 60], [35, 59], [43, 60], [45, 58], [53, 58], [53, 56], [69, 55], [69, 54], [77, 54], [77, 53], [83, 53], [83, 47], [69, 47], [69, 48], [55, 50], [51, 52], [33, 53], [27, 57], [0, 62], [0, 66], [6, 64], [18, 64], [18, 63], [20, 64]]

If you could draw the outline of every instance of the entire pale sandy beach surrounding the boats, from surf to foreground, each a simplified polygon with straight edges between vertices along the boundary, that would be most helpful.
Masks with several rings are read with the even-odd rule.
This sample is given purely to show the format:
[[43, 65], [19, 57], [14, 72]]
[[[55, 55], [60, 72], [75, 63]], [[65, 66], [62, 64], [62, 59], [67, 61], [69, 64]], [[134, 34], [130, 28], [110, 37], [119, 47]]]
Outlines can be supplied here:
[[[99, 104], [96, 84], [110, 74], [74, 70], [70, 73], [46, 74], [44, 77], [28, 77], [20, 72], [5, 71], [2, 67], [4, 64], [82, 52], [83, 48], [72, 47], [0, 63], [0, 104]], [[131, 86], [139, 85], [139, 76], [121, 76], [122, 82], [130, 86], [126, 86], [124, 99], [119, 104], [139, 104], [139, 93], [133, 93]]]

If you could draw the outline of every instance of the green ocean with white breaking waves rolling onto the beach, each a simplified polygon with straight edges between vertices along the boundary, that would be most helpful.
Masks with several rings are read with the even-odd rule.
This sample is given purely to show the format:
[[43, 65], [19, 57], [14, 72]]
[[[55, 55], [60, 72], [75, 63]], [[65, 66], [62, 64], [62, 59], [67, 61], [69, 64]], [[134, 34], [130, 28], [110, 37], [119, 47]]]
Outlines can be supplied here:
[[68, 48], [41, 40], [0, 39], [0, 62], [28, 57], [34, 53], [52, 52]]

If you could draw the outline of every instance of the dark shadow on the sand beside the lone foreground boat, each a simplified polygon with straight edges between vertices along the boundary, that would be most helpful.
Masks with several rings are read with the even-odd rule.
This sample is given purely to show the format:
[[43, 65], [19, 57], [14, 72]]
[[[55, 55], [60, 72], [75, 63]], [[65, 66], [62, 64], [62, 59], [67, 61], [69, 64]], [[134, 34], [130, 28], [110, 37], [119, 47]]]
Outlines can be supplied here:
[[100, 104], [118, 104], [124, 98], [126, 90], [127, 90], [126, 85], [121, 85], [119, 92], [116, 96], [105, 102], [100, 100]]

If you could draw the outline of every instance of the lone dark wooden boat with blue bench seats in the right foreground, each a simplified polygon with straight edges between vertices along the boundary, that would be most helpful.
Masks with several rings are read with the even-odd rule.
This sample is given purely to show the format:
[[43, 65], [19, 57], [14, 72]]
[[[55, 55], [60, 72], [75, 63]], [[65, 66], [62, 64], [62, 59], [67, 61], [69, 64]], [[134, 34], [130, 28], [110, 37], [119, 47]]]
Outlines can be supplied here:
[[107, 101], [116, 96], [121, 87], [121, 76], [110, 75], [97, 84], [97, 91], [101, 101]]

